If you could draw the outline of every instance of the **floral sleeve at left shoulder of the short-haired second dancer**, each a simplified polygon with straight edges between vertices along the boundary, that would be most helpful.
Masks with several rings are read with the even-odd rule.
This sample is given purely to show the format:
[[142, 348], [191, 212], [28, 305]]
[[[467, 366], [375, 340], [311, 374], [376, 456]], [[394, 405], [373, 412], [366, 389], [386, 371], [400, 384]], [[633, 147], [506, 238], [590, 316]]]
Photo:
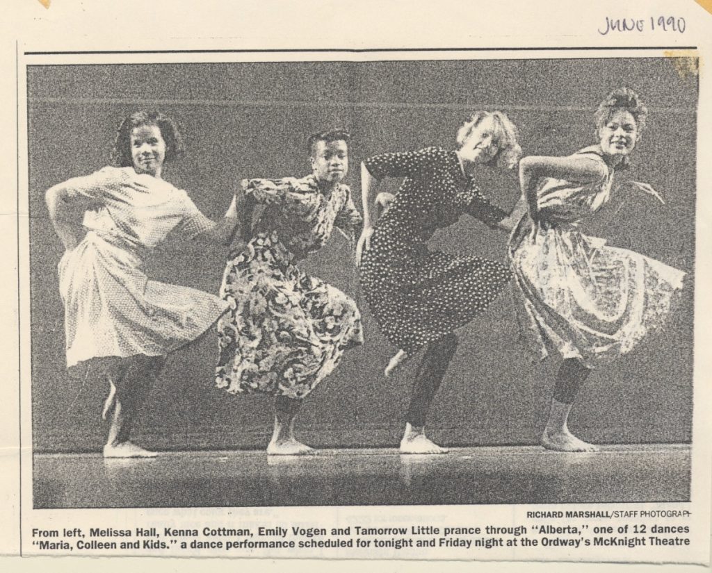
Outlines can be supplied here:
[[308, 215], [318, 208], [319, 190], [309, 177], [297, 179], [244, 179], [245, 196], [257, 203], [281, 205], [284, 210], [298, 216]]

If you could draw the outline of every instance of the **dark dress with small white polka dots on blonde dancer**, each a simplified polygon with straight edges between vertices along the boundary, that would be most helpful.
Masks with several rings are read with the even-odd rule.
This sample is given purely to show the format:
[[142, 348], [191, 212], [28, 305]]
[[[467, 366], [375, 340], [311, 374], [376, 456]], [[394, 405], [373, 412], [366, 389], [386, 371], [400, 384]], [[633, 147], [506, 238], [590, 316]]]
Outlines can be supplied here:
[[365, 161], [377, 179], [405, 177], [375, 224], [362, 257], [361, 286], [388, 340], [413, 354], [464, 326], [506, 287], [506, 264], [431, 251], [426, 241], [463, 213], [496, 225], [507, 213], [489, 203], [454, 151], [429, 147]]

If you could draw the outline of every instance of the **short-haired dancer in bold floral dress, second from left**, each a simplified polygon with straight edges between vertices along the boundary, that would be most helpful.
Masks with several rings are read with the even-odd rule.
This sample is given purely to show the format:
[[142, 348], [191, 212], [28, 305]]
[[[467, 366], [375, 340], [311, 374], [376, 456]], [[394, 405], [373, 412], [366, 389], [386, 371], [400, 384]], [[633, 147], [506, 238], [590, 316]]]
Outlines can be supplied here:
[[[233, 394], [275, 396], [268, 454], [313, 453], [294, 437], [302, 400], [344, 350], [363, 341], [355, 302], [297, 266], [326, 244], [334, 227], [352, 242], [360, 231], [361, 215], [342, 183], [348, 142], [342, 130], [315, 134], [308, 141], [311, 175], [243, 182], [240, 240], [221, 287], [231, 311], [218, 325], [216, 384]], [[258, 204], [265, 208], [252, 228]]]

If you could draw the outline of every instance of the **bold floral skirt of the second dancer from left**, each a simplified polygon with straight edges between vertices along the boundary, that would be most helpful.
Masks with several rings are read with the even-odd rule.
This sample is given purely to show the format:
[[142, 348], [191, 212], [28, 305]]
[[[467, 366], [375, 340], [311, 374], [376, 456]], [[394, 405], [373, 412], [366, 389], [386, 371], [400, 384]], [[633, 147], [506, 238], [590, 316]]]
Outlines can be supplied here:
[[216, 385], [303, 398], [344, 350], [363, 343], [352, 299], [299, 269], [275, 232], [259, 233], [225, 269]]

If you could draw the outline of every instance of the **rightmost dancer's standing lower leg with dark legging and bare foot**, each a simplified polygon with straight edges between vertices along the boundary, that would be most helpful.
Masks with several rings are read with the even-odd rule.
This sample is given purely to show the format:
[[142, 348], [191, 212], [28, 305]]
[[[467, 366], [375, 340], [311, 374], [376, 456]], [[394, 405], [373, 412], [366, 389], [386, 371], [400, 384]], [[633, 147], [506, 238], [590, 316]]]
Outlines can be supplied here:
[[590, 370], [580, 360], [564, 360], [557, 374], [554, 398], [541, 444], [556, 451], [599, 451], [598, 446], [578, 439], [567, 425], [569, 413]]

